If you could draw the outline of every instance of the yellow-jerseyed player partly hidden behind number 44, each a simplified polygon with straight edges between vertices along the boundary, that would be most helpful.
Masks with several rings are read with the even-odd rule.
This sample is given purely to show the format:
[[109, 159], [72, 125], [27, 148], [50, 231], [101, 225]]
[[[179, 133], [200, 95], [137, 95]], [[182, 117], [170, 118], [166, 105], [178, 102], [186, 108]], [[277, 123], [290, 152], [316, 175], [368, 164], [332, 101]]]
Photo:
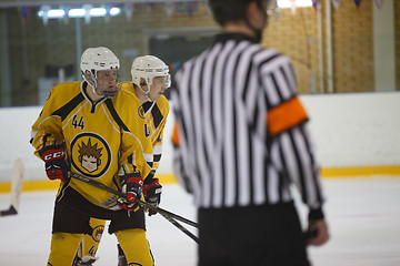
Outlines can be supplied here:
[[[152, 142], [152, 170], [144, 180], [143, 194], [148, 202], [157, 206], [160, 203], [161, 185], [154, 174], [161, 160], [163, 129], [170, 110], [169, 102], [163, 95], [171, 85], [169, 68], [157, 57], [144, 55], [133, 61], [131, 74], [132, 82], [124, 82], [122, 91], [134, 95], [130, 108], [146, 121], [144, 134]], [[149, 211], [149, 215], [152, 214], [154, 213]], [[101, 229], [104, 227], [104, 223], [103, 219], [90, 219], [92, 228]], [[79, 246], [76, 266], [92, 265], [91, 262], [96, 259], [94, 255], [100, 244], [99, 237], [101, 238], [101, 234], [84, 235]], [[127, 265], [120, 245], [118, 245], [118, 266]]]

